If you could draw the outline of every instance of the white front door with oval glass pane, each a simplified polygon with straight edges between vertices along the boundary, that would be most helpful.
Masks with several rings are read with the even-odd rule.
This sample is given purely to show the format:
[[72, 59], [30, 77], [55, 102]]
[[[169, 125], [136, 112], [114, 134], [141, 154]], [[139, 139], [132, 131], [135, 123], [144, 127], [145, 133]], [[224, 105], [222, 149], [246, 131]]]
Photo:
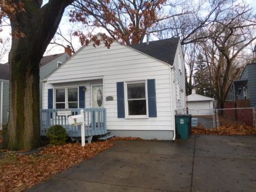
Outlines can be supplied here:
[[103, 85], [92, 85], [92, 108], [103, 108]]

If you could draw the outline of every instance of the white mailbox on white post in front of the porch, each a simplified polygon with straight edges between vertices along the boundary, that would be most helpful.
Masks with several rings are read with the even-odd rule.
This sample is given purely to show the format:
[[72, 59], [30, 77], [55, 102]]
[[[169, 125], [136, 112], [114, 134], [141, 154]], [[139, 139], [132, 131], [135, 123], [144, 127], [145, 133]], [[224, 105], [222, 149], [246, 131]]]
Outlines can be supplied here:
[[77, 126], [81, 125], [81, 142], [82, 147], [85, 146], [85, 127], [84, 127], [84, 110], [81, 109], [80, 115], [73, 115], [68, 117], [68, 124]]

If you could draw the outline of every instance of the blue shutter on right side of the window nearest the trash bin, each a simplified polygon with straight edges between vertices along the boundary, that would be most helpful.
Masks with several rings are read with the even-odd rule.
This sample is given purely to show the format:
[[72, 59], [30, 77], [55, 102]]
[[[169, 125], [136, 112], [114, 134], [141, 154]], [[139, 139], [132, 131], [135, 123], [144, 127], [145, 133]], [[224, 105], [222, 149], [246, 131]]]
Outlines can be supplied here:
[[148, 117], [157, 117], [156, 113], [156, 81], [148, 79]]

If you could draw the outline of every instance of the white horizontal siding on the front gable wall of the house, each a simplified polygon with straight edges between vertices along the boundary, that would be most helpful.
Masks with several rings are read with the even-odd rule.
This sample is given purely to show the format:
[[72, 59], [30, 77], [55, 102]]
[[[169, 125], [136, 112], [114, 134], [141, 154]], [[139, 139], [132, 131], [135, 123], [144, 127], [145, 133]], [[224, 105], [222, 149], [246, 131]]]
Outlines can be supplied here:
[[[63, 86], [86, 86], [85, 107], [90, 107], [90, 84], [86, 79], [102, 79], [104, 107], [107, 109], [108, 130], [173, 130], [171, 115], [171, 87], [169, 65], [114, 42], [110, 49], [83, 47], [72, 58], [47, 78], [44, 89], [44, 108], [47, 90]], [[117, 118], [117, 82], [155, 79], [157, 117], [146, 119]], [[97, 82], [100, 80], [94, 80]], [[113, 101], [106, 101], [112, 96]]]

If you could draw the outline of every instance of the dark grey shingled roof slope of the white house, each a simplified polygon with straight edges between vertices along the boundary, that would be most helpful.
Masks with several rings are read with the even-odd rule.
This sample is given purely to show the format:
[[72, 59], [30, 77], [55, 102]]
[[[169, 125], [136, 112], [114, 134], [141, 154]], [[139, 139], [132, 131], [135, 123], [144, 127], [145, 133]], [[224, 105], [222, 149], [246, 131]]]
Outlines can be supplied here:
[[179, 37], [172, 37], [169, 39], [152, 41], [149, 42], [148, 45], [147, 43], [140, 43], [137, 45], [130, 45], [130, 47], [173, 65], [179, 39]]

